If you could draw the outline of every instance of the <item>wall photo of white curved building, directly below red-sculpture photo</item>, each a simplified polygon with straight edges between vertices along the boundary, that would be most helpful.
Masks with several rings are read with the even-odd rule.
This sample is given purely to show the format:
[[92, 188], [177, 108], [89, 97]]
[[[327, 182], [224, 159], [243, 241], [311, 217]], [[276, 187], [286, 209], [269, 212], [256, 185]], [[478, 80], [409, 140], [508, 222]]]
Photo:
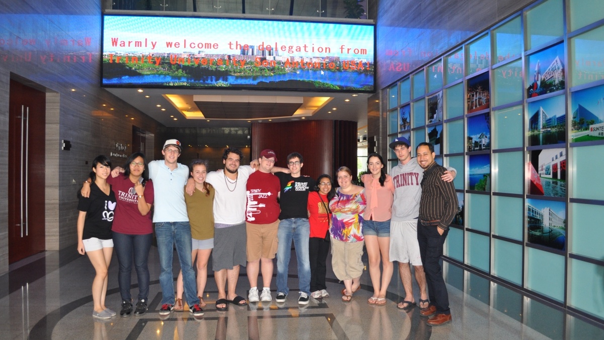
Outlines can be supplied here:
[[527, 242], [566, 249], [566, 203], [527, 198]]

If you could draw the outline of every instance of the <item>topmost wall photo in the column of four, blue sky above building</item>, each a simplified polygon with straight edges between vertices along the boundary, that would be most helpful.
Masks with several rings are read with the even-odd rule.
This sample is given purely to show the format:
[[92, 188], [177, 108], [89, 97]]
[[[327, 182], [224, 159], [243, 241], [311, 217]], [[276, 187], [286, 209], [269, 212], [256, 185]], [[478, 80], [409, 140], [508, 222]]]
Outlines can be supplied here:
[[564, 44], [533, 53], [527, 60], [527, 98], [564, 90]]

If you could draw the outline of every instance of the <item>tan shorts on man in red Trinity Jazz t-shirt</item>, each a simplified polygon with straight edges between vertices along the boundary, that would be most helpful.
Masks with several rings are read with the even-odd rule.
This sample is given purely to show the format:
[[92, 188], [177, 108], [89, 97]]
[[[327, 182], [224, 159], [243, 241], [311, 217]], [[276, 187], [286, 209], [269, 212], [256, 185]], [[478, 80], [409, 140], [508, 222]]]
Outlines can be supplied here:
[[248, 234], [246, 242], [248, 262], [260, 260], [261, 257], [275, 258], [278, 245], [278, 229], [279, 220], [268, 224], [245, 223], [245, 230]]

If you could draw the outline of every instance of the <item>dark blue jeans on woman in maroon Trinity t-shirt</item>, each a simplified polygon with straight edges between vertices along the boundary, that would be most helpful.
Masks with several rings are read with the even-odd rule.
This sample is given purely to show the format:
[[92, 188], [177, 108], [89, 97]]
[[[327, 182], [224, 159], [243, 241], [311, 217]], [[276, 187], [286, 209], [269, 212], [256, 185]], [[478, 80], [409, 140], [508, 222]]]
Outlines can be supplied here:
[[144, 235], [130, 235], [113, 232], [114, 249], [120, 271], [117, 281], [120, 284], [120, 295], [123, 300], [132, 299], [130, 295], [130, 273], [132, 273], [132, 260], [137, 270], [138, 299], [149, 297], [149, 249], [153, 240], [153, 233]]

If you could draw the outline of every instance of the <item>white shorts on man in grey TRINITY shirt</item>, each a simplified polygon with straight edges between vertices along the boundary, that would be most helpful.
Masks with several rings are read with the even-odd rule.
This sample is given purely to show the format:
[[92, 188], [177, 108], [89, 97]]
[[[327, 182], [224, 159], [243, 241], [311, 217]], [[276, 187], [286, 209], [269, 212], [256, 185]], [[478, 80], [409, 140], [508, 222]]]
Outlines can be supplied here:
[[417, 220], [390, 221], [390, 261], [422, 266], [417, 242]]

